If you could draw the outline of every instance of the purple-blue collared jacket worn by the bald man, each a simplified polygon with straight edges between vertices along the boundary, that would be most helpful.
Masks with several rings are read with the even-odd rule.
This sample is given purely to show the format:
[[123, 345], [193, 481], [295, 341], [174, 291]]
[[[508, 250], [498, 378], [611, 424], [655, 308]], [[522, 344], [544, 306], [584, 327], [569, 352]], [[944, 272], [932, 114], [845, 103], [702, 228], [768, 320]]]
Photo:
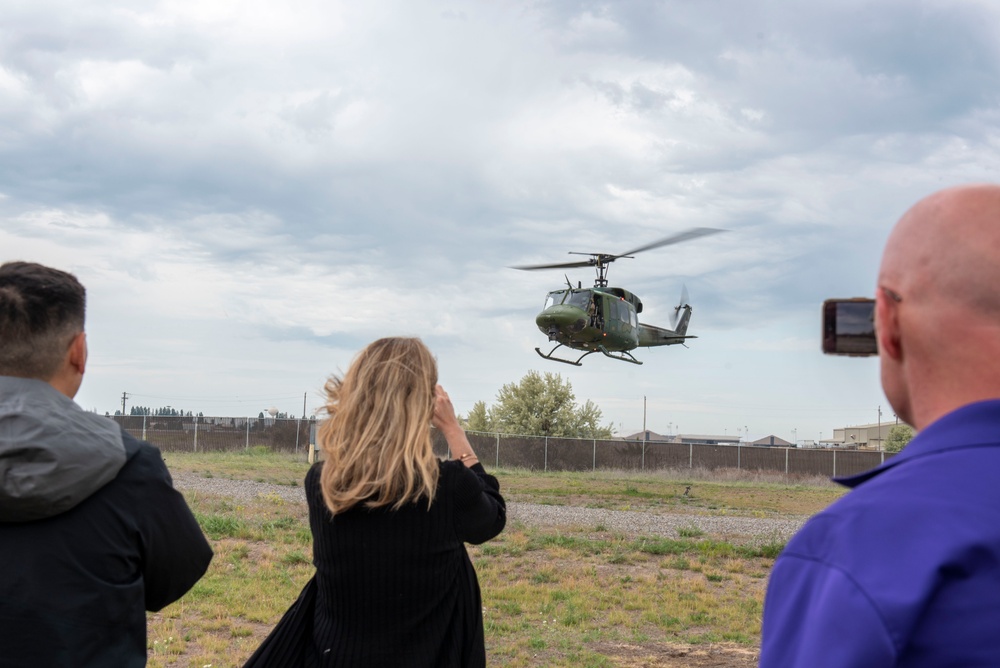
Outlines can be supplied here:
[[1000, 666], [1000, 400], [838, 482], [775, 563], [760, 666]]

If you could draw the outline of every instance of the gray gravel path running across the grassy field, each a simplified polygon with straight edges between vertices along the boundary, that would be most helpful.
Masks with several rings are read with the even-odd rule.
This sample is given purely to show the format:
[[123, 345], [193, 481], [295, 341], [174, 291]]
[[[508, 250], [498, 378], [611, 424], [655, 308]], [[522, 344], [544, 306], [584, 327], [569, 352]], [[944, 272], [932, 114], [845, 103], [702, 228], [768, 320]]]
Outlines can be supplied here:
[[[301, 487], [273, 485], [253, 480], [202, 478], [192, 473], [173, 474], [177, 489], [252, 500], [277, 495], [290, 502], [305, 502]], [[508, 522], [528, 526], [575, 527], [614, 531], [629, 536], [676, 538], [680, 529], [698, 529], [706, 534], [740, 537], [743, 541], [787, 540], [806, 518], [730, 517], [719, 515], [672, 514], [635, 510], [607, 510], [581, 506], [550, 506], [537, 503], [507, 504]], [[743, 542], [741, 541], [741, 542]]]

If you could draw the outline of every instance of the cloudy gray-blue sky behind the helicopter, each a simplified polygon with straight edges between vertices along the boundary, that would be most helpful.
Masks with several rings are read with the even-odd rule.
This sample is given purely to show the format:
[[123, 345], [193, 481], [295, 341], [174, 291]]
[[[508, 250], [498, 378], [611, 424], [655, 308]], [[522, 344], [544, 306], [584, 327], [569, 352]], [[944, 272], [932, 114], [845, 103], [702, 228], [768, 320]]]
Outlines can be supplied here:
[[[89, 291], [78, 402], [312, 413], [384, 335], [460, 412], [530, 370], [616, 431], [832, 436], [893, 420], [875, 359], [819, 352], [893, 222], [996, 181], [987, 0], [64, 0], [0, 10], [0, 260]], [[688, 348], [534, 353], [560, 272], [611, 267]], [[585, 283], [590, 270], [570, 276]]]

